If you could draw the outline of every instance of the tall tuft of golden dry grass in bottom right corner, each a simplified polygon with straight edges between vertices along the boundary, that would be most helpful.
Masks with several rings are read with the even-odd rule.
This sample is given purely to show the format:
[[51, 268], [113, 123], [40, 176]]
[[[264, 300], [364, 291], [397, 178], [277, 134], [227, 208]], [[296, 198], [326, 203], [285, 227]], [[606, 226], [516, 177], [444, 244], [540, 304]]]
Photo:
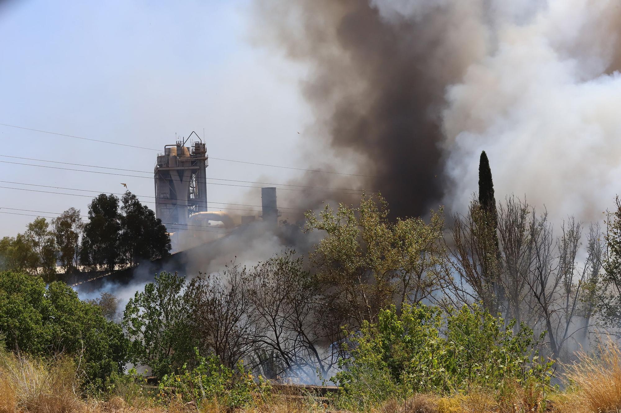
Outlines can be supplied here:
[[596, 355], [580, 353], [579, 363], [568, 367], [568, 383], [574, 387], [566, 411], [618, 412], [621, 409], [621, 350], [610, 341]]

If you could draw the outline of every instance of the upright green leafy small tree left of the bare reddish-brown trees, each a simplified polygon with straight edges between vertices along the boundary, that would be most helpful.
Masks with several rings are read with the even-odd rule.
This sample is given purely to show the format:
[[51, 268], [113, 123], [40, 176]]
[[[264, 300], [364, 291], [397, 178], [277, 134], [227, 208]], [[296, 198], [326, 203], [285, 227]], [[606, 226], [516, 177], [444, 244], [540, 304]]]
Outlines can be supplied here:
[[136, 365], [148, 365], [158, 377], [193, 358], [194, 334], [183, 277], [162, 272], [127, 302], [122, 325]]

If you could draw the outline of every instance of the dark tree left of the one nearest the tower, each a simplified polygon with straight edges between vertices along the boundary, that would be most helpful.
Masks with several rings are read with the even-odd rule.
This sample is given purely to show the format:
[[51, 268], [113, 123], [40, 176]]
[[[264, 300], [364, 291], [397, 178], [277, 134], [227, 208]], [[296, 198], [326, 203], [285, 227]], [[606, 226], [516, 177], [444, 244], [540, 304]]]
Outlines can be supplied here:
[[88, 222], [80, 248], [80, 261], [96, 269], [114, 271], [119, 262], [119, 198], [99, 194], [88, 206]]

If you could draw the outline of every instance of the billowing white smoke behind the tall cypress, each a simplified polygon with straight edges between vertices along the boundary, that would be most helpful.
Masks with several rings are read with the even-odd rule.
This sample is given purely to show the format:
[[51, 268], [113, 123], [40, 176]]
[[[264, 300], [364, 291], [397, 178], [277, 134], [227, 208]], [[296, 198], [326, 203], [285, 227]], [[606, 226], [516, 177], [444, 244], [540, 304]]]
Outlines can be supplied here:
[[446, 204], [468, 205], [485, 150], [497, 198], [526, 195], [555, 217], [601, 219], [620, 191], [621, 4], [487, 3], [486, 52], [446, 91]]

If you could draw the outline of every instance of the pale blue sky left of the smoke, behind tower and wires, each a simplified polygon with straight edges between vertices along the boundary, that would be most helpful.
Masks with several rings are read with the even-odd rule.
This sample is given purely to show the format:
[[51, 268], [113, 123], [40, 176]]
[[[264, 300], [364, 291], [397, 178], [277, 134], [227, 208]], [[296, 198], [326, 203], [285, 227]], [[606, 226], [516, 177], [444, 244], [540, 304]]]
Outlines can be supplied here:
[[[297, 134], [311, 124], [298, 88], [304, 68], [274, 48], [253, 45], [260, 27], [251, 6], [245, 0], [5, 3], [0, 7], [0, 123], [148, 148], [174, 143], [175, 133], [187, 137], [196, 130], [202, 136], [204, 128], [212, 157], [312, 165], [299, 150], [304, 134]], [[156, 155], [2, 125], [0, 143], [0, 155], [139, 171], [152, 171]], [[296, 175], [226, 161], [209, 164], [212, 178], [284, 183]], [[8, 163], [0, 163], [0, 176], [21, 183], [0, 183], [14, 188], [85, 194], [23, 185], [39, 184], [120, 193], [120, 183], [127, 183], [135, 194], [153, 196], [153, 181], [147, 178]], [[207, 190], [212, 202], [260, 204], [260, 189], [209, 185]], [[61, 212], [73, 206], [86, 214], [89, 201], [0, 188], [0, 212]], [[22, 232], [33, 219], [0, 214], [0, 236]]]

